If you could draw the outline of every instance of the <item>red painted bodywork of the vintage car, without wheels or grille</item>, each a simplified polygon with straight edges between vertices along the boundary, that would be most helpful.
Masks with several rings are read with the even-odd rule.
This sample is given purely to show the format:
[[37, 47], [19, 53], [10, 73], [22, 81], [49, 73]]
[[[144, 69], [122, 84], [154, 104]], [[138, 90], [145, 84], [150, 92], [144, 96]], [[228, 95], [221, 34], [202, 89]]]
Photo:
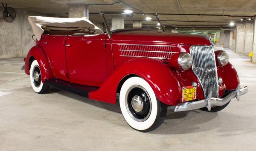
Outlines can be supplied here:
[[[200, 81], [192, 69], [178, 70], [167, 63], [177, 62], [177, 58], [171, 57], [175, 53], [190, 53], [189, 48], [197, 45], [211, 46], [211, 42], [203, 36], [150, 30], [116, 31], [111, 38], [108, 34], [42, 35], [27, 54], [25, 73], [29, 75], [30, 64], [36, 59], [43, 83], [54, 78], [70, 84], [95, 87], [89, 92], [90, 99], [113, 104], [125, 79], [139, 76], [148, 82], [159, 101], [175, 106], [182, 102], [182, 88], [192, 85], [192, 82], [197, 84], [197, 99], [205, 98]], [[125, 52], [122, 50], [125, 47], [134, 47], [137, 52]], [[159, 53], [146, 51], [154, 47]], [[164, 51], [173, 53], [159, 57], [166, 55]], [[215, 51], [215, 56], [218, 52]], [[218, 77], [223, 79], [223, 84], [218, 86], [218, 97], [221, 98], [228, 90], [237, 88], [239, 78], [232, 64], [216, 64]]]

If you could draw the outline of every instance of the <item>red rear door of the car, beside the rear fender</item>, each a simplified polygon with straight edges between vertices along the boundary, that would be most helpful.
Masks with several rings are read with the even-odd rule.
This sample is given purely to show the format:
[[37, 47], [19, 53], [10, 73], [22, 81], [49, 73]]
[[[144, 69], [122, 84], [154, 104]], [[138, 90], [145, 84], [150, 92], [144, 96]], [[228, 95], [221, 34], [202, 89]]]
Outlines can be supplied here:
[[39, 45], [46, 53], [55, 78], [69, 81], [66, 64], [66, 36], [43, 35]]

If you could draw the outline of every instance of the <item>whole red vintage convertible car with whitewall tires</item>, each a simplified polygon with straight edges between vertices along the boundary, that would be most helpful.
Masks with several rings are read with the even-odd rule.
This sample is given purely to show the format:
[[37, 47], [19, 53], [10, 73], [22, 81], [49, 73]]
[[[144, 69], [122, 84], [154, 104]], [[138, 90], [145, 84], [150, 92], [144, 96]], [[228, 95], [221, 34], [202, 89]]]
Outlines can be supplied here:
[[160, 126], [168, 106], [175, 112], [218, 112], [248, 91], [240, 88], [229, 55], [214, 51], [204, 36], [111, 31], [106, 21], [104, 34], [86, 18], [30, 17], [29, 22], [37, 40], [24, 60], [34, 91], [56, 87], [119, 102], [126, 122], [138, 131]]

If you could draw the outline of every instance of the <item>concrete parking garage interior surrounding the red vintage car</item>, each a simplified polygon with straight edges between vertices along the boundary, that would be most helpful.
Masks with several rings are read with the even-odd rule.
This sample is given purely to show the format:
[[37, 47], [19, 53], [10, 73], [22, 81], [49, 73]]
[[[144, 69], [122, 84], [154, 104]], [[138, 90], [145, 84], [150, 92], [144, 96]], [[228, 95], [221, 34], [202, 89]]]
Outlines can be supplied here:
[[[0, 0], [0, 150], [232, 150], [256, 148], [256, 0]], [[15, 10], [6, 22], [4, 7]], [[35, 45], [29, 16], [87, 17], [107, 32], [150, 28], [206, 36], [225, 50], [247, 95], [220, 112], [175, 113], [141, 133], [125, 122], [119, 104], [50, 88], [33, 92], [23, 58]], [[161, 24], [156, 18], [156, 13]]]

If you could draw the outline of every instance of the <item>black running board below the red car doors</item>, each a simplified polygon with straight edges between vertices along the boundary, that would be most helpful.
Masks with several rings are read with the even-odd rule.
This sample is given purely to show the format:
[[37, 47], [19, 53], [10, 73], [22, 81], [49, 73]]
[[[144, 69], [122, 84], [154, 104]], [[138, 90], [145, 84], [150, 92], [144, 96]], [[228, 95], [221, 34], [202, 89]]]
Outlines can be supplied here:
[[59, 80], [59, 79], [47, 79], [44, 81], [44, 84], [50, 87], [55, 87], [57, 89], [61, 89], [64, 91], [76, 93], [77, 95], [81, 95], [84, 97], [89, 97], [89, 93], [91, 91], [95, 91], [99, 89], [98, 87], [90, 87], [90, 86], [83, 86], [79, 84], [72, 84], [67, 81]]

